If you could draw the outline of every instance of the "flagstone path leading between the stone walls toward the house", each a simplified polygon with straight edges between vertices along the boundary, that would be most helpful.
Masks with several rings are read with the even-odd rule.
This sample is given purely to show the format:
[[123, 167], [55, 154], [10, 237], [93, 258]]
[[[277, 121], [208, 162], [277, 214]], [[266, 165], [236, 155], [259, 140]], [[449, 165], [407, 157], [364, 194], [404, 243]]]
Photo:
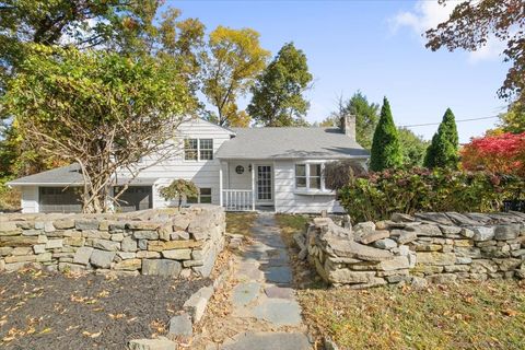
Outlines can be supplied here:
[[[223, 350], [311, 349], [301, 306], [291, 288], [292, 270], [288, 248], [273, 214], [260, 213], [252, 230], [254, 243], [235, 261], [236, 285], [230, 295], [232, 317], [256, 319], [273, 331], [253, 329], [226, 340]], [[217, 349], [208, 347], [207, 349]]]

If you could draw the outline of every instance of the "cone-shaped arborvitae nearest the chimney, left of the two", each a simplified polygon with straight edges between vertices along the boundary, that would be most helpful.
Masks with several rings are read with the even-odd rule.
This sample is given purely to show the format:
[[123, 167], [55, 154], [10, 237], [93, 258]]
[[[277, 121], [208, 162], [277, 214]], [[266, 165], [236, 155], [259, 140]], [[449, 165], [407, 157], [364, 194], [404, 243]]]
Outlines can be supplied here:
[[370, 168], [381, 172], [385, 168], [398, 167], [402, 163], [401, 147], [397, 128], [392, 118], [390, 104], [386, 97], [381, 107], [381, 117], [372, 141]]

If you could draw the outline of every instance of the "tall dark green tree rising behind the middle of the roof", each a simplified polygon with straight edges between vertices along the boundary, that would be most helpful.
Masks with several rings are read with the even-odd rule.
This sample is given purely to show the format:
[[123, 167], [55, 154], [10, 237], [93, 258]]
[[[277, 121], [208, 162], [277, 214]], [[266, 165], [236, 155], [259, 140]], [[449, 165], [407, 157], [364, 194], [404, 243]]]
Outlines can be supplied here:
[[288, 43], [257, 77], [246, 110], [264, 126], [304, 125], [310, 103], [303, 93], [311, 81], [306, 55], [296, 49], [293, 43]]

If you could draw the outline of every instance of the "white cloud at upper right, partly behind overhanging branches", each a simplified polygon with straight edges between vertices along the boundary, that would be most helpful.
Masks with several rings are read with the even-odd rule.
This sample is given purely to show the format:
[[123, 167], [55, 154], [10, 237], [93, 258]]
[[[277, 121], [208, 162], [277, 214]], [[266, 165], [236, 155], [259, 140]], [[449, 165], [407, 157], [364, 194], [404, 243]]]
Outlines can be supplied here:
[[[401, 11], [389, 20], [390, 28], [393, 33], [397, 33], [401, 27], [408, 27], [421, 36], [421, 40], [424, 43], [424, 32], [445, 22], [457, 3], [451, 1], [442, 5], [438, 3], [438, 0], [418, 0], [412, 11]], [[468, 61], [476, 63], [482, 60], [498, 59], [503, 49], [504, 43], [495, 37], [489, 37], [485, 46], [468, 54]]]

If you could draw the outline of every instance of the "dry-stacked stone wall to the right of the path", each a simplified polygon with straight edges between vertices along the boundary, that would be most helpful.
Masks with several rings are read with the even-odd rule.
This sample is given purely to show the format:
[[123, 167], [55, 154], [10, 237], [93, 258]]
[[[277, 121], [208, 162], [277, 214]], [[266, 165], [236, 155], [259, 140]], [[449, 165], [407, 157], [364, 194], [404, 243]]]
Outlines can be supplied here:
[[394, 214], [347, 229], [316, 218], [295, 236], [332, 284], [351, 288], [460, 279], [525, 278], [525, 214]]

